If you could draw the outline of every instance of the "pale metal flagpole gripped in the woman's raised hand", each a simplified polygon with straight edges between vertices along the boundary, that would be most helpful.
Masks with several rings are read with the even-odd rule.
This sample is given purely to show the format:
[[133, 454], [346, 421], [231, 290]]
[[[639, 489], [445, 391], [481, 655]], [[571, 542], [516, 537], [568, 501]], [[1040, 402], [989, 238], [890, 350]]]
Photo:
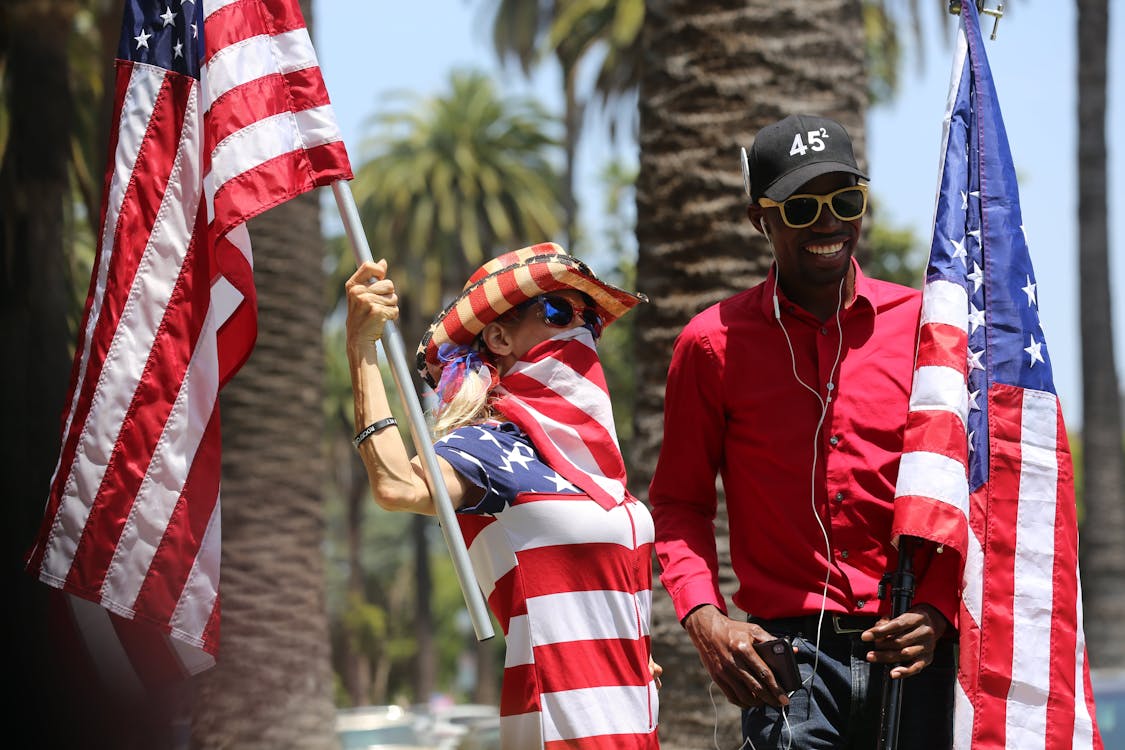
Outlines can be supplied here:
[[[348, 240], [356, 253], [357, 264], [372, 260], [371, 249], [367, 244], [367, 235], [360, 223], [351, 187], [345, 180], [336, 180], [332, 183], [332, 193], [336, 198], [336, 208], [340, 210], [340, 218], [344, 222], [344, 231], [348, 233]], [[495, 635], [492, 620], [489, 620], [484, 595], [480, 593], [480, 587], [472, 572], [472, 562], [469, 560], [469, 551], [465, 546], [465, 537], [461, 536], [461, 527], [457, 523], [453, 503], [449, 499], [449, 490], [446, 488], [441, 469], [438, 467], [438, 454], [433, 450], [433, 443], [430, 442], [430, 430], [426, 426], [425, 414], [422, 412], [422, 404], [411, 385], [411, 371], [406, 364], [406, 347], [394, 320], [387, 320], [384, 325], [382, 347], [390, 362], [395, 385], [398, 386], [398, 395], [402, 397], [403, 406], [410, 416], [414, 446], [422, 458], [422, 466], [430, 479], [430, 491], [433, 494], [433, 504], [438, 509], [438, 518], [441, 521], [441, 533], [446, 537], [446, 546], [449, 548], [449, 554], [453, 559], [453, 568], [457, 571], [457, 579], [461, 584], [465, 603], [469, 608], [472, 629], [477, 633], [478, 641], [487, 641]]]

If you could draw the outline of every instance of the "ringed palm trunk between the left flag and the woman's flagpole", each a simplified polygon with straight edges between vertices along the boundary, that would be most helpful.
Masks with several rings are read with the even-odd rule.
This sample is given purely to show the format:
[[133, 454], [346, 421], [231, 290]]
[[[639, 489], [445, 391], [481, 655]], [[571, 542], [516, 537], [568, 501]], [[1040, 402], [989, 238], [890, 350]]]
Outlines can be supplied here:
[[251, 222], [258, 343], [222, 392], [222, 643], [200, 748], [333, 747], [324, 600], [323, 241], [318, 196]]

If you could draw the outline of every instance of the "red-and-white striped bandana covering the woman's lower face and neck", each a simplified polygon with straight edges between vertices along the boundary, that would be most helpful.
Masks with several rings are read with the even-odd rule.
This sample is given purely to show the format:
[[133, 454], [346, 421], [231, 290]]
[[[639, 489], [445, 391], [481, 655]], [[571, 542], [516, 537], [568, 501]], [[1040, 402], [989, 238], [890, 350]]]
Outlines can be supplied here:
[[606, 510], [626, 500], [626, 463], [594, 340], [572, 328], [528, 352], [501, 380], [497, 408], [543, 460]]

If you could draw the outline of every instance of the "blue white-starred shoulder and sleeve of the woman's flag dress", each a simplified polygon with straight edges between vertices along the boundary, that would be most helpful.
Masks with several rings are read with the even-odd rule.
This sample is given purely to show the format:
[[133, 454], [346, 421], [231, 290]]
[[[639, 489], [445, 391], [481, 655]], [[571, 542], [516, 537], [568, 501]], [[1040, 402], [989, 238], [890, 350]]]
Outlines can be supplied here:
[[543, 463], [528, 435], [511, 422], [459, 427], [434, 443], [434, 452], [485, 489], [480, 503], [462, 512], [501, 513], [526, 493], [582, 493]]

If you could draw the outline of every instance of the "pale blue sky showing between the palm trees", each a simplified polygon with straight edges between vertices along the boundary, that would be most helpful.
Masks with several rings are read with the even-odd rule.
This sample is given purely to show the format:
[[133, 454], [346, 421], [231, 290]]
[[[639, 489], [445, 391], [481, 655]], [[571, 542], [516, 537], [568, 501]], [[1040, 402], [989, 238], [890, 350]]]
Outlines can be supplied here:
[[[558, 75], [544, 70], [526, 82], [501, 71], [489, 43], [480, 0], [314, 0], [317, 54], [336, 116], [354, 162], [362, 156], [367, 120], [390, 90], [441, 93], [454, 67], [476, 67], [498, 76], [508, 93], [534, 93], [559, 111]], [[956, 19], [937, 0], [926, 0], [926, 44], [908, 52], [901, 92], [891, 106], [868, 112], [867, 159], [871, 187], [883, 218], [911, 227], [929, 240], [937, 181], [942, 115], [948, 90], [952, 37]], [[944, 4], [944, 3], [940, 3]], [[989, 6], [996, 6], [990, 1]], [[1066, 423], [1081, 423], [1081, 344], [1078, 310], [1078, 233], [1076, 225], [1076, 10], [1058, 0], [1007, 3], [989, 62], [1016, 162], [1024, 225], [1038, 281], [1040, 311], [1054, 380]], [[1112, 3], [1113, 4], [1113, 3]], [[982, 28], [991, 30], [991, 21]], [[1109, 215], [1125, 216], [1125, 27], [1110, 19]], [[1123, 134], [1123, 135], [1118, 135]], [[636, 144], [585, 138], [578, 154], [583, 219], [596, 232], [602, 195], [596, 170], [614, 156], [636, 162]], [[731, 169], [738, 169], [731, 161]], [[1110, 273], [1114, 290], [1125, 289], [1125, 235], [1110, 220]], [[378, 249], [372, 249], [378, 256]], [[1118, 376], [1125, 371], [1125, 302], [1114, 305]]]

